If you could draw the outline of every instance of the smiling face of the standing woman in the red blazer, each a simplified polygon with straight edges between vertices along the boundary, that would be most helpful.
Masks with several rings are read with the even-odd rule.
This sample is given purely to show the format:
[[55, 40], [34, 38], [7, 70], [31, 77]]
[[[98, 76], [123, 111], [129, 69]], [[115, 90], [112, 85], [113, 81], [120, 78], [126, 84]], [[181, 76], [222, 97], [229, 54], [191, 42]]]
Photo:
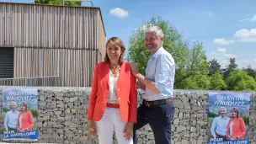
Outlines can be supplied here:
[[110, 61], [119, 61], [119, 58], [121, 56], [121, 48], [115, 45], [108, 44], [107, 54]]

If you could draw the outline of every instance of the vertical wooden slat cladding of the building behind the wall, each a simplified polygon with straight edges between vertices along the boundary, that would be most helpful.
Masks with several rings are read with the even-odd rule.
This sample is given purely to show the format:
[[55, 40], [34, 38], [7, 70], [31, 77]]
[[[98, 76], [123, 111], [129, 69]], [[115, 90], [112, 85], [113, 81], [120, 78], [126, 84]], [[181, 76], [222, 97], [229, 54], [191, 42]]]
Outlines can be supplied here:
[[59, 76], [60, 86], [91, 86], [105, 52], [103, 25], [99, 8], [0, 3], [0, 46], [15, 47], [14, 77]]

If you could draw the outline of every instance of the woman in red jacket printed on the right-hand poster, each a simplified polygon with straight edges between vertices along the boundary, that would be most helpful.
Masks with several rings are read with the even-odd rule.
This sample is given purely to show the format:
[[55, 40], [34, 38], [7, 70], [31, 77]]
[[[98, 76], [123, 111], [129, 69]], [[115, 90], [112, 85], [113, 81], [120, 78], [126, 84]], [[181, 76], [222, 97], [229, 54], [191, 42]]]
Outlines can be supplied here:
[[246, 134], [245, 124], [239, 117], [237, 108], [231, 109], [231, 119], [227, 124], [227, 140], [243, 140]]

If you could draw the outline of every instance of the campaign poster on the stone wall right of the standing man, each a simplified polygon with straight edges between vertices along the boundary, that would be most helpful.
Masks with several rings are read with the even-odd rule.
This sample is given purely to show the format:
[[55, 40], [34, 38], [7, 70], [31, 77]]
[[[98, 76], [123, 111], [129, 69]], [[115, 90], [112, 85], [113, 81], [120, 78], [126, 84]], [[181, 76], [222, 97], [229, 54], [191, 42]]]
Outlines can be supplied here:
[[208, 144], [249, 144], [250, 93], [209, 93]]

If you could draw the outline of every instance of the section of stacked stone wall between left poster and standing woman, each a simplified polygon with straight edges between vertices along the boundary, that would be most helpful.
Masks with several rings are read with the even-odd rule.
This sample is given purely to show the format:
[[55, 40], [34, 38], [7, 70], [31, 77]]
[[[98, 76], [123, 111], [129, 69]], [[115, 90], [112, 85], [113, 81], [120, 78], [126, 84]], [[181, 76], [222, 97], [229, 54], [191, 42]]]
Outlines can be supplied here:
[[38, 127], [41, 142], [88, 143], [86, 89], [39, 91]]

